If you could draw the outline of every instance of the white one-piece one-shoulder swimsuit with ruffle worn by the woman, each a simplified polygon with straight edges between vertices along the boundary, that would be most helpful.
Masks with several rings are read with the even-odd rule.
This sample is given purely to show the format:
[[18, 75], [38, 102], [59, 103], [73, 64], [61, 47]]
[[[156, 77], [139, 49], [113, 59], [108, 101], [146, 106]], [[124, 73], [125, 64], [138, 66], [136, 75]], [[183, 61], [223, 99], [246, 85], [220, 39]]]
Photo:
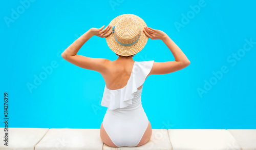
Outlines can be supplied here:
[[137, 146], [148, 125], [141, 105], [142, 88], [154, 60], [135, 61], [125, 87], [117, 90], [104, 89], [101, 105], [108, 107], [103, 127], [112, 142], [118, 146]]

